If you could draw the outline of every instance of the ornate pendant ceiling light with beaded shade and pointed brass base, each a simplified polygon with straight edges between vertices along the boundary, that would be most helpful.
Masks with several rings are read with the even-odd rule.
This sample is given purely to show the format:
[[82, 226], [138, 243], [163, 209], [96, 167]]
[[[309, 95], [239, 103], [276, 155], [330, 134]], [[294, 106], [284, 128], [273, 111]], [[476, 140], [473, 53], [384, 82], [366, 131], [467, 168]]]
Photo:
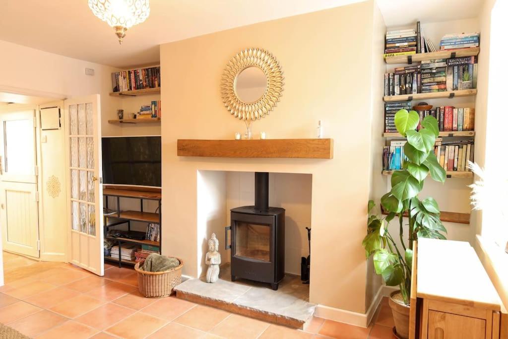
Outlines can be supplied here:
[[88, 0], [88, 7], [99, 19], [115, 29], [120, 45], [125, 32], [150, 15], [149, 0]]

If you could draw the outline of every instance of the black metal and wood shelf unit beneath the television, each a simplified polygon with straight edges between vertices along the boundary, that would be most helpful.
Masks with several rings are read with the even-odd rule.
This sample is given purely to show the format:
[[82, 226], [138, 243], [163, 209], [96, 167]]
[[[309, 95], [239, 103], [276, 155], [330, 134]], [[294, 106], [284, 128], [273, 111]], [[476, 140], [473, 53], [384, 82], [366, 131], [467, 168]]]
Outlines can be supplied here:
[[[161, 189], [150, 189], [150, 188], [135, 188], [135, 187], [104, 187], [103, 189], [103, 198], [105, 198], [105, 207], [108, 208], [109, 199], [108, 197], [116, 198], [116, 206], [117, 209], [114, 213], [104, 215], [104, 238], [109, 240], [114, 240], [118, 244], [118, 259], [109, 256], [104, 256], [104, 260], [113, 261], [118, 263], [118, 267], [121, 267], [122, 264], [130, 264], [135, 265], [136, 261], [122, 259], [121, 257], [121, 248], [122, 244], [125, 243], [134, 243], [138, 245], [150, 245], [155, 248], [158, 248], [158, 253], [162, 254], [162, 217], [161, 217], [161, 200], [162, 193]], [[130, 199], [139, 199], [140, 202], [140, 210], [120, 210], [120, 198], [130, 198]], [[143, 211], [143, 200], [153, 200], [158, 203], [158, 213], [154, 212], [146, 212]], [[141, 222], [147, 224], [157, 224], [159, 226], [159, 241], [148, 240], [148, 239], [133, 239], [127, 236], [131, 231], [131, 222]], [[110, 236], [108, 235], [108, 231], [110, 227], [126, 225], [127, 230], [115, 230], [118, 236]]]

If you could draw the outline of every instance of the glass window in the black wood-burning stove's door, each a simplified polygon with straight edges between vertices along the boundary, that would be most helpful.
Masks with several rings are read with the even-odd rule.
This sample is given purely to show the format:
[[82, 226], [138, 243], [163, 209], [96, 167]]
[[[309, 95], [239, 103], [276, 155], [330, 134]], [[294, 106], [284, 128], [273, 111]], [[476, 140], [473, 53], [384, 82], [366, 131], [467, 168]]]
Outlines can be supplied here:
[[270, 226], [236, 222], [235, 255], [270, 261]]

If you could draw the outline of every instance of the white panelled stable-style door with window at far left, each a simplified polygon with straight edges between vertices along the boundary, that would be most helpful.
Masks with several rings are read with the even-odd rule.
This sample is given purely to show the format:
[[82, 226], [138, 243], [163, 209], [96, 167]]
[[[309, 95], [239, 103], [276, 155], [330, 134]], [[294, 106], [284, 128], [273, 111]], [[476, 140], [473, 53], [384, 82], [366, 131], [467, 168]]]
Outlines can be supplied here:
[[35, 110], [0, 115], [0, 221], [3, 248], [39, 257]]

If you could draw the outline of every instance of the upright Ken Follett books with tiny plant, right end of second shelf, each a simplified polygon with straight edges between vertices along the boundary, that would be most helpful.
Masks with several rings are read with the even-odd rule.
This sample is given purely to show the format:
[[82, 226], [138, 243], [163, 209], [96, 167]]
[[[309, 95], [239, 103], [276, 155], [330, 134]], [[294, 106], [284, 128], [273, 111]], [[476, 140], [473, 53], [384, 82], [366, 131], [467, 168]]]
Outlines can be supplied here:
[[447, 59], [447, 90], [476, 88], [478, 56]]

